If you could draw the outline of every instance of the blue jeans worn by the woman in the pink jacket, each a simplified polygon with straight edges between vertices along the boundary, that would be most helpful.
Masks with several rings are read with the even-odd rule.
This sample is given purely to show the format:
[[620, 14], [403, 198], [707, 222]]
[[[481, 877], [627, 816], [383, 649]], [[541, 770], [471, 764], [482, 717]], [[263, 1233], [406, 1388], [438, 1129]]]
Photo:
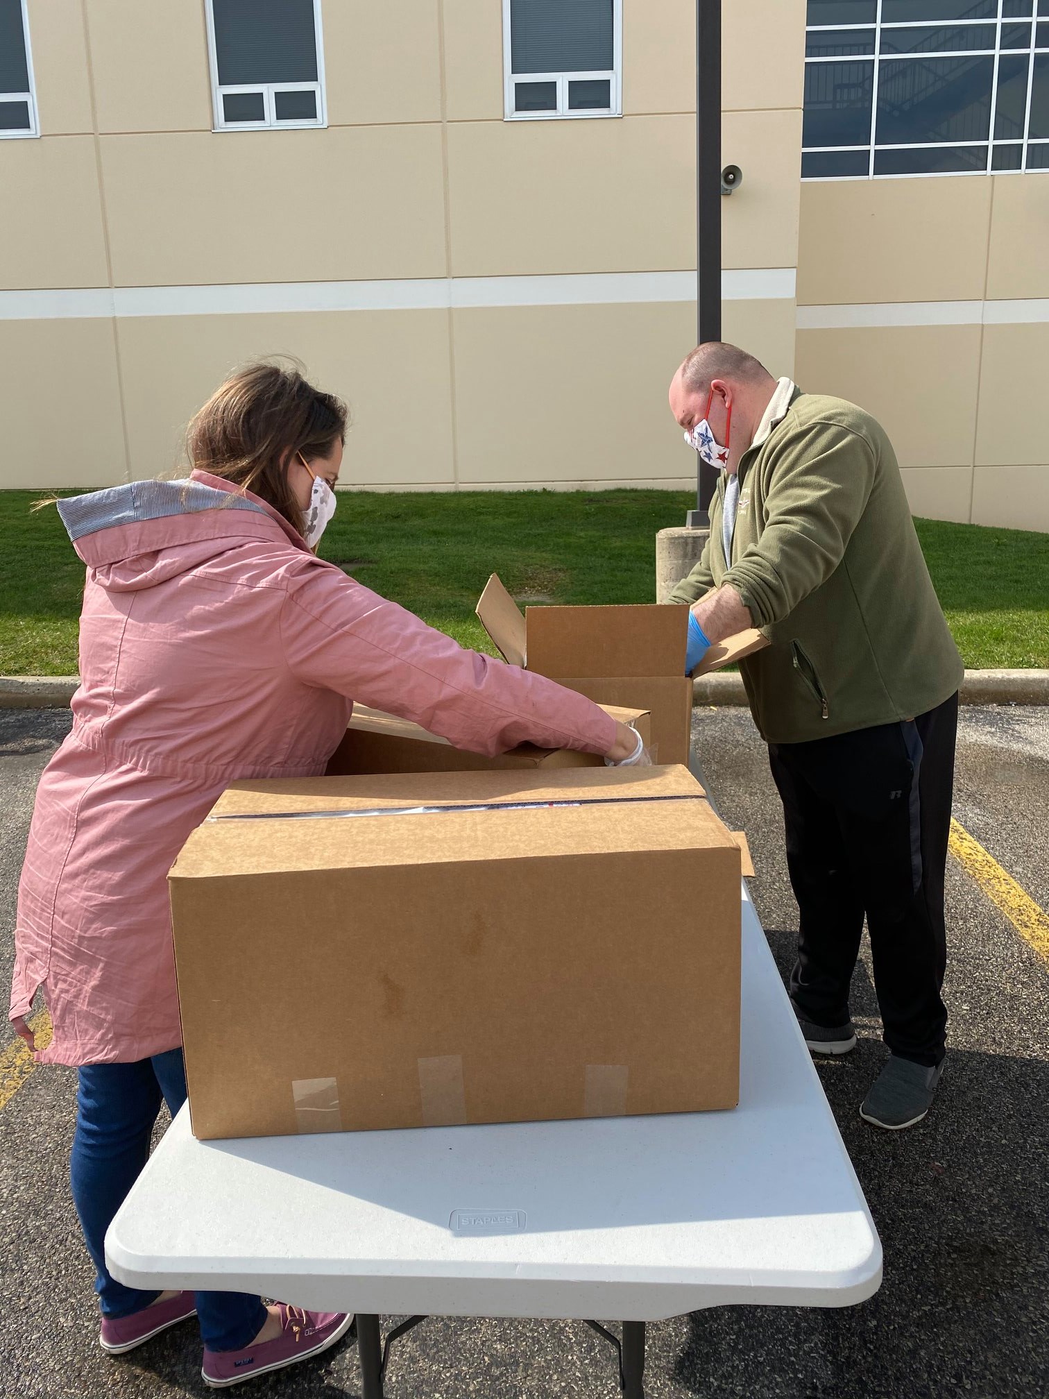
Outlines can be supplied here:
[[[180, 1049], [137, 1063], [94, 1063], [80, 1070], [70, 1182], [98, 1272], [95, 1291], [104, 1316], [130, 1316], [159, 1297], [117, 1283], [106, 1267], [104, 1244], [113, 1216], [148, 1160], [161, 1098], [172, 1116], [186, 1101]], [[242, 1350], [266, 1322], [262, 1301], [245, 1293], [197, 1293], [196, 1302], [208, 1350]]]

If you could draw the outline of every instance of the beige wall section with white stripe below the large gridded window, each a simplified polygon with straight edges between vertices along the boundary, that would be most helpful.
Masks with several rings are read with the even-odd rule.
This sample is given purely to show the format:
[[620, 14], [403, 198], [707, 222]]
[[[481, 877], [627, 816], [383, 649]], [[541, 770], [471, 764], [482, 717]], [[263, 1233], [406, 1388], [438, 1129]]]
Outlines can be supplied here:
[[911, 506], [1049, 530], [1049, 178], [807, 182], [797, 375], [888, 429]]

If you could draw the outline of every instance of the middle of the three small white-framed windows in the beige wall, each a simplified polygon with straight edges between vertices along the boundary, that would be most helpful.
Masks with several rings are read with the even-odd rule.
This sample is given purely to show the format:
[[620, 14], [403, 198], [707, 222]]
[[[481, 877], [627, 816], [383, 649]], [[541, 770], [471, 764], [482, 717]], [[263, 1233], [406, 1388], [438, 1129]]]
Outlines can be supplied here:
[[320, 0], [207, 0], [217, 132], [324, 126]]

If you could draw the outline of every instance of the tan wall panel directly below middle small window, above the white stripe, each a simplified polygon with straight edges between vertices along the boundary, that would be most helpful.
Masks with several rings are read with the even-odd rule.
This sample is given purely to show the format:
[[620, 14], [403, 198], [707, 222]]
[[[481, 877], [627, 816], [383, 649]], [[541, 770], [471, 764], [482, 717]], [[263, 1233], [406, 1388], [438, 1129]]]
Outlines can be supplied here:
[[117, 285], [445, 274], [439, 126], [108, 136], [102, 165]]

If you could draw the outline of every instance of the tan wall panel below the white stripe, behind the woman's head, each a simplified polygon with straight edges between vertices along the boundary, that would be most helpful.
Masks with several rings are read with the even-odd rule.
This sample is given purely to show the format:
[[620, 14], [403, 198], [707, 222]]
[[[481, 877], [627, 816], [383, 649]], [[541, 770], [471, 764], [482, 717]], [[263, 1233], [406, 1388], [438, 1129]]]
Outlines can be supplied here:
[[445, 311], [150, 316], [119, 330], [134, 477], [176, 466], [186, 422], [232, 367], [291, 354], [350, 404], [347, 484], [453, 478]]

